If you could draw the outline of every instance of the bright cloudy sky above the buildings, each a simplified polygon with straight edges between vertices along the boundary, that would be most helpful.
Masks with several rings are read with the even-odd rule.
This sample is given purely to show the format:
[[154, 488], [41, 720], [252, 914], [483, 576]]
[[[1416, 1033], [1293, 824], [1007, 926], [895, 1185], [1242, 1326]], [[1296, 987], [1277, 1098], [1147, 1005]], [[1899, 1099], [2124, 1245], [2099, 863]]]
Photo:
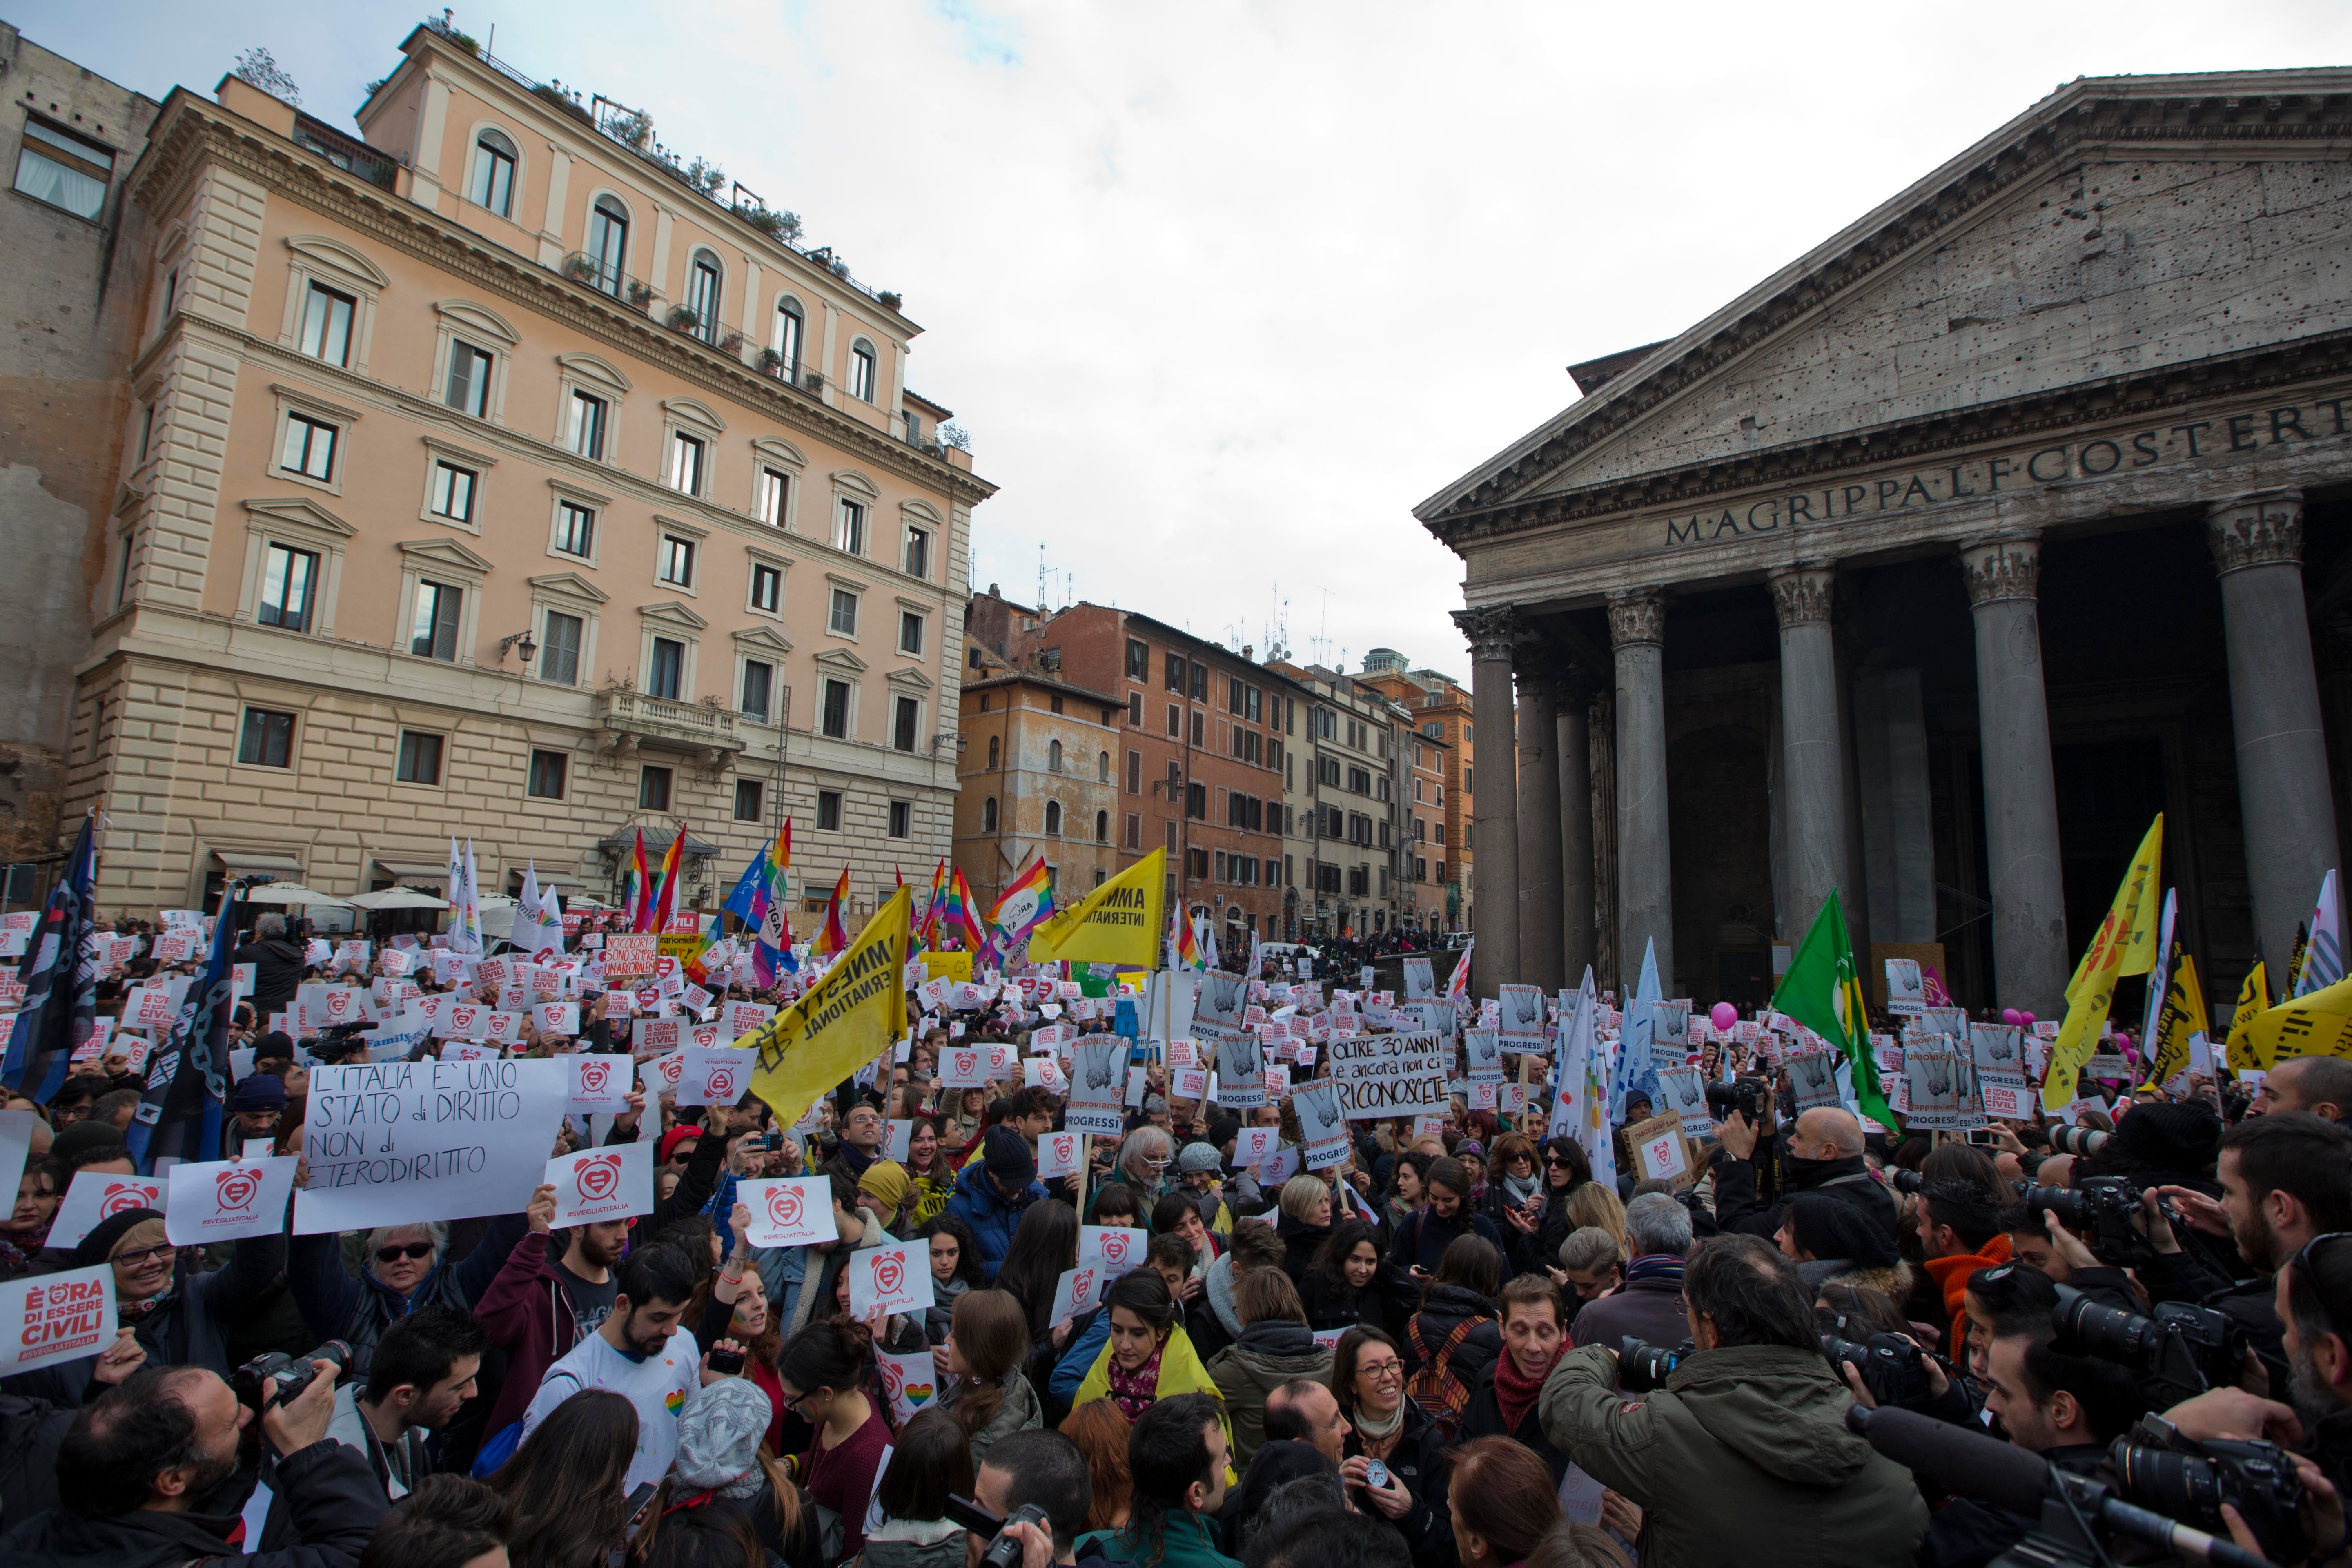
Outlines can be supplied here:
[[[16, 0], [129, 87], [350, 127], [421, 9]], [[1411, 508], [2074, 75], [2352, 61], [2352, 7], [517, 0], [456, 24], [802, 214], [924, 324], [974, 581], [1468, 677]], [[1042, 552], [1040, 552], [1042, 545]]]

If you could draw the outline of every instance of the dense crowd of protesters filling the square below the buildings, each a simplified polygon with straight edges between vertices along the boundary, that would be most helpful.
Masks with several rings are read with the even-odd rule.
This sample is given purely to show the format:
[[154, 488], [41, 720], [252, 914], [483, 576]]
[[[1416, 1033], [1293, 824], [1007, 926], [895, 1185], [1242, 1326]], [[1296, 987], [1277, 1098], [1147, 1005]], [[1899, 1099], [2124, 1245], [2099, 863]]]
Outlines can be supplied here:
[[[223, 1114], [301, 1154], [310, 1065], [362, 1046], [266, 1027], [325, 978], [299, 931], [263, 917], [238, 957], [252, 1065]], [[153, 969], [103, 983], [101, 1011]], [[630, 1009], [581, 1004], [579, 1037], [515, 1053], [633, 1053]], [[1541, 1091], [1352, 1121], [1319, 1171], [1242, 1161], [1247, 1128], [1298, 1140], [1291, 1107], [1176, 1098], [1138, 1046], [1124, 1135], [1040, 1180], [1063, 1100], [936, 1077], [950, 1039], [1035, 1023], [1009, 997], [929, 1016], [800, 1128], [753, 1095], [642, 1093], [567, 1124], [555, 1152], [654, 1145], [656, 1204], [630, 1220], [560, 1229], [541, 1187], [485, 1220], [212, 1248], [146, 1208], [47, 1244], [78, 1173], [136, 1173], [141, 1074], [113, 1048], [75, 1063], [9, 1100], [35, 1131], [0, 1276], [111, 1267], [120, 1324], [101, 1354], [0, 1380], [0, 1559], [960, 1568], [997, 1540], [985, 1514], [1023, 1568], [1835, 1568], [1990, 1563], [2039, 1528], [1872, 1448], [1849, 1410], [1882, 1403], [2086, 1476], [2126, 1436], [2270, 1441], [2293, 1530], [2232, 1505], [2213, 1533], [2272, 1561], [2345, 1552], [2352, 1063], [2281, 1065], [2251, 1100], [2126, 1088], [2074, 1119], [2096, 1150], [2058, 1152], [2042, 1117], [1983, 1145], [1835, 1105], [1785, 1119], [1771, 1060], [1731, 1051], [1710, 1072], [1750, 1070], [1762, 1114], [1726, 1114], [1689, 1178], [1635, 1180], [1618, 1138], [1595, 1180]], [[736, 1187], [762, 1175], [828, 1178], [837, 1239], [750, 1246]], [[1148, 1246], [1056, 1321], [1082, 1225]], [[847, 1260], [898, 1241], [934, 1307], [854, 1316]], [[2230, 1366], [2117, 1359], [2070, 1328], [2077, 1293], [2206, 1312]], [[929, 1352], [913, 1413], [877, 1352]]]

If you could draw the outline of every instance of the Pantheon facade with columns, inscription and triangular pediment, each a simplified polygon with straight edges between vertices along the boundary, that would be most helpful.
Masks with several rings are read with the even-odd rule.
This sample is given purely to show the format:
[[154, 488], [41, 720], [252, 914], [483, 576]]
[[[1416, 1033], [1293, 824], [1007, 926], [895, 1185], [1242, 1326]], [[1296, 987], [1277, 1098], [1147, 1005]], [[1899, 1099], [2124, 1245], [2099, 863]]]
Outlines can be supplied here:
[[1571, 376], [1416, 508], [1482, 994], [1656, 943], [1757, 1001], [1837, 889], [1860, 954], [2056, 1016], [2159, 811], [2206, 999], [2277, 987], [2345, 860], [2352, 71], [2074, 80]]

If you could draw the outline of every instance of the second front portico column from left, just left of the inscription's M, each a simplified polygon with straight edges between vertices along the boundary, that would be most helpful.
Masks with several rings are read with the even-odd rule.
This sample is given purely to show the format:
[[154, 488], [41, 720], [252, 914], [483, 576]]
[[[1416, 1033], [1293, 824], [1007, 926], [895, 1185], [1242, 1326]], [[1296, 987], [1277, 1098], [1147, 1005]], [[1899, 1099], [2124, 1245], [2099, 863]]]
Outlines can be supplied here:
[[1665, 837], [1665, 592], [1609, 595], [1618, 708], [1618, 997], [1656, 945], [1661, 994], [1675, 997], [1675, 856]]

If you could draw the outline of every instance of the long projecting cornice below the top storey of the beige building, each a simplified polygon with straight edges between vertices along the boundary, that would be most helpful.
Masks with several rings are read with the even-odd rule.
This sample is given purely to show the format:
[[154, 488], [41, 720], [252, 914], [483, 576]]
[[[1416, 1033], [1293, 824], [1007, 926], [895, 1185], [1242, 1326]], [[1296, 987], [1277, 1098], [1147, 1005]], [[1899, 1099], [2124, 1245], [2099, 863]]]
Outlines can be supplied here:
[[263, 183], [275, 195], [393, 244], [449, 277], [463, 277], [480, 289], [496, 292], [586, 339], [607, 343], [633, 360], [659, 364], [762, 418], [821, 437], [844, 454], [882, 463], [953, 501], [971, 505], [997, 491], [978, 475], [927, 458], [906, 442], [894, 442], [880, 430], [842, 418], [811, 393], [788, 388], [748, 364], [727, 362], [715, 348], [656, 327], [652, 317], [609, 301], [588, 284], [503, 252], [470, 228], [346, 174], [315, 153], [228, 115], [186, 89], [172, 92], [158, 120], [139, 167], [132, 169], [132, 200], [151, 214], [169, 207], [176, 190], [195, 176], [205, 158], [212, 158]]

